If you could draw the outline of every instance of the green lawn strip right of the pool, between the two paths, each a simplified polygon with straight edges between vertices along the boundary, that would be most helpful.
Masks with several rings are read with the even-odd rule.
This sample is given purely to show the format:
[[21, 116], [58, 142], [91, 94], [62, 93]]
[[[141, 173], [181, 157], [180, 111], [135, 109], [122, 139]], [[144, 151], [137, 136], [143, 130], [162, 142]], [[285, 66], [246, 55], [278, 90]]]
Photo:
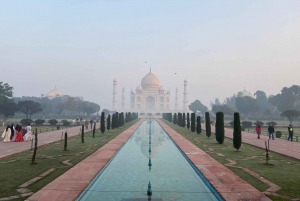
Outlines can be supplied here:
[[[281, 189], [276, 193], [300, 198], [300, 161], [271, 152], [271, 160], [269, 163], [273, 164], [273, 166], [266, 166], [265, 151], [263, 149], [242, 144], [240, 151], [237, 152], [233, 148], [232, 140], [229, 138], [225, 138], [223, 144], [217, 144], [214, 134], [212, 134], [210, 138], [207, 138], [205, 131], [202, 131], [202, 133], [198, 135], [187, 128], [179, 127], [165, 120], [163, 121], [221, 164], [229, 163], [226, 159], [234, 160], [237, 162], [236, 166], [248, 168], [280, 186]], [[272, 144], [270, 146], [272, 146]], [[209, 148], [213, 149], [213, 151], [210, 151]], [[221, 153], [225, 156], [219, 156], [217, 153]], [[238, 168], [230, 169], [258, 190], [263, 191], [267, 188], [250, 174]]]

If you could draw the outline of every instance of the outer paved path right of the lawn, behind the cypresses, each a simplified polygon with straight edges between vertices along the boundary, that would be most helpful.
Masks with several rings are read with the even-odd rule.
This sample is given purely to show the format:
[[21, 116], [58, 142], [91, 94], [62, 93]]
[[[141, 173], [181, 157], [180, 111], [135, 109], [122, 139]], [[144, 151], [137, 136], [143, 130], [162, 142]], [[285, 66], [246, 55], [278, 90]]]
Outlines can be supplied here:
[[[202, 128], [205, 125], [202, 124]], [[275, 127], [276, 130], [276, 127]], [[215, 127], [211, 127], [211, 132], [215, 132]], [[225, 128], [225, 136], [228, 138], [233, 138], [233, 129]], [[274, 134], [275, 136], [275, 134]], [[257, 134], [242, 132], [242, 142], [250, 144], [259, 148], [265, 149], [265, 140], [268, 140], [268, 136], [260, 135], [260, 139], [257, 139]], [[294, 139], [295, 140], [295, 139]], [[279, 153], [297, 160], [300, 160], [300, 143], [291, 142], [284, 139], [275, 138], [275, 140], [270, 140], [270, 151]]]

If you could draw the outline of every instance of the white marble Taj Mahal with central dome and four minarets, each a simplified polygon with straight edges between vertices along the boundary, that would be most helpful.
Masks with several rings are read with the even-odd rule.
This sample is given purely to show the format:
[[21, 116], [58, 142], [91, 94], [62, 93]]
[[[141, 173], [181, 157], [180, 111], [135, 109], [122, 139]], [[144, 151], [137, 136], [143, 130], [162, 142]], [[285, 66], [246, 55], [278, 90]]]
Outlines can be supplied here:
[[187, 80], [184, 80], [183, 105], [178, 105], [178, 89], [175, 90], [175, 107], [170, 103], [170, 90], [165, 90], [159, 79], [151, 72], [145, 75], [135, 91], [130, 91], [130, 108], [125, 108], [125, 88], [122, 88], [122, 108], [118, 108], [117, 80], [113, 81], [113, 110], [144, 113], [184, 111], [188, 112]]

